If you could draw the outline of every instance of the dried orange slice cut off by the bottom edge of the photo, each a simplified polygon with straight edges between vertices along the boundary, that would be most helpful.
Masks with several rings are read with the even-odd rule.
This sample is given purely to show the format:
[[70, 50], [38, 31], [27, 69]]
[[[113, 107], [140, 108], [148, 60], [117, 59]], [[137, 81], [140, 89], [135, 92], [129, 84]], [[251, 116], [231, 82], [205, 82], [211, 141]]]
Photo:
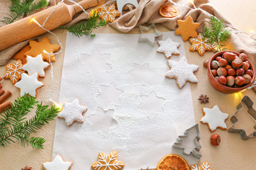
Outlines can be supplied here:
[[189, 170], [188, 163], [178, 154], [167, 154], [156, 166], [156, 170]]

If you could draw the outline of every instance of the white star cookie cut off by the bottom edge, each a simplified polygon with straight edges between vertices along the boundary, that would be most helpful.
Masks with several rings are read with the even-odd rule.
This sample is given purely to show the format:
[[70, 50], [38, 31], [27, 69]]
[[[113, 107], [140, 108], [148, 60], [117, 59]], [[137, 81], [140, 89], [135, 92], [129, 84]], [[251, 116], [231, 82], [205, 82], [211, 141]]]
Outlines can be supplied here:
[[43, 163], [43, 168], [46, 170], [68, 170], [72, 164], [72, 162], [63, 162], [62, 157], [58, 154], [52, 162]]

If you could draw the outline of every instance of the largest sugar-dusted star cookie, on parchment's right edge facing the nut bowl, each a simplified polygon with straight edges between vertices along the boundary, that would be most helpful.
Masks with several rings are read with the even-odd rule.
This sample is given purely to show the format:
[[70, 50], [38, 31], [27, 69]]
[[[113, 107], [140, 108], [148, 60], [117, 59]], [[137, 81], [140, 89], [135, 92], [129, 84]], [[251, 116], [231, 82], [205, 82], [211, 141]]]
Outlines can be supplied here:
[[198, 66], [188, 64], [185, 56], [181, 57], [179, 62], [168, 60], [168, 64], [171, 70], [166, 73], [165, 77], [169, 79], [176, 79], [179, 89], [186, 84], [186, 81], [198, 83], [196, 76], [193, 74], [193, 72], [198, 70]]

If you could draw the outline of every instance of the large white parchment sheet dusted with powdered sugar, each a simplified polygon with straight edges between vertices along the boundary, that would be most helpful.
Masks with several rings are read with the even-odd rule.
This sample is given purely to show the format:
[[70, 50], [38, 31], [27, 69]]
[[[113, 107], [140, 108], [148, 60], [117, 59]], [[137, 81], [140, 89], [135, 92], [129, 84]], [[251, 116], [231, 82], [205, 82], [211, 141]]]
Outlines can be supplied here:
[[[174, 32], [167, 38], [181, 43]], [[172, 153], [178, 135], [195, 124], [191, 89], [178, 89], [165, 78], [164, 54], [138, 42], [139, 35], [97, 34], [95, 38], [67, 35], [60, 102], [78, 98], [88, 107], [85, 123], [67, 127], [57, 120], [53, 157], [73, 162], [71, 169], [90, 169], [99, 152], [117, 150], [124, 170], [156, 167]], [[179, 60], [172, 56], [170, 60]]]

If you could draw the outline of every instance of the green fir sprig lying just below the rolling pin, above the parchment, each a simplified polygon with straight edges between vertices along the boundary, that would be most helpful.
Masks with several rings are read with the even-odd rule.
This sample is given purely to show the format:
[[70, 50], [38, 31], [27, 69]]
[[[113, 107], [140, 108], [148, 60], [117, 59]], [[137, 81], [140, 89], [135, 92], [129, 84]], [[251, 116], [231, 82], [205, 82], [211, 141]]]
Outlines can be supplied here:
[[95, 37], [95, 34], [92, 34], [92, 30], [100, 28], [101, 26], [105, 26], [107, 24], [104, 20], [99, 19], [99, 14], [95, 12], [92, 13], [92, 16], [90, 16], [87, 21], [75, 23], [73, 26], [70, 27], [60, 26], [59, 28], [63, 30], [68, 30], [70, 33], [77, 36], [78, 38], [82, 37], [83, 35], [90, 35], [91, 37]]

